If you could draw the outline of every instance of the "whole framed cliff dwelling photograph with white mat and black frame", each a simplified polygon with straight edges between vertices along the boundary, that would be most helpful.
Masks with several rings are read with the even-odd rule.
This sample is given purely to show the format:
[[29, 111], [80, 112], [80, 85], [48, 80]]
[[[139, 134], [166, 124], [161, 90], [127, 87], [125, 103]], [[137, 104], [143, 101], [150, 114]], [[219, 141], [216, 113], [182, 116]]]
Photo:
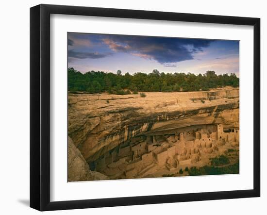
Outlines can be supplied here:
[[30, 206], [260, 197], [260, 19], [30, 10]]

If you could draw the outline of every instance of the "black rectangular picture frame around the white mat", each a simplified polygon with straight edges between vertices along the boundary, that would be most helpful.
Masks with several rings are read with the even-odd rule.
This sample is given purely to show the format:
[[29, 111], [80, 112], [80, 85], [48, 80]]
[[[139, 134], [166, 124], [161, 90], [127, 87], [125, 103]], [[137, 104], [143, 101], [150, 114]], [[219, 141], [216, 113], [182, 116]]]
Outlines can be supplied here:
[[[50, 201], [50, 14], [253, 26], [253, 189]], [[30, 9], [30, 207], [40, 211], [260, 197], [260, 18], [40, 4]]]

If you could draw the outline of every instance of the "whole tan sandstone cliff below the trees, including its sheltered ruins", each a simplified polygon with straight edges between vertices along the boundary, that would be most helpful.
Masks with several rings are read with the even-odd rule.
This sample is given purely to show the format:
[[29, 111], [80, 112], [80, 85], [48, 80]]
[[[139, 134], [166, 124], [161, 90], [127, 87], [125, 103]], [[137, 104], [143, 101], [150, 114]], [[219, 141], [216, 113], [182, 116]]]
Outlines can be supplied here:
[[[212, 167], [220, 156], [230, 162], [219, 168], [239, 172], [238, 88], [146, 94], [69, 94], [70, 159], [81, 159], [69, 164], [68, 181], [186, 176], [179, 171]], [[86, 177], [76, 173], [81, 165]]]

